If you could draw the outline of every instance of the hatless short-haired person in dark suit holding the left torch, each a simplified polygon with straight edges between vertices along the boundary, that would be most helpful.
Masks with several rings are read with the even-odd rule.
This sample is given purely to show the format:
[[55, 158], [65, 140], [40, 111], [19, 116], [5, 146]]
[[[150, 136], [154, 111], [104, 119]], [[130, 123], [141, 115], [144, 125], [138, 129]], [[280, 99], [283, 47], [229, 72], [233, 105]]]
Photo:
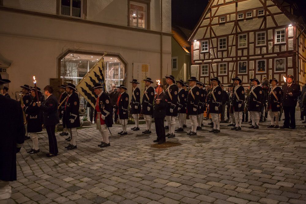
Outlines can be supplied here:
[[55, 125], [59, 123], [58, 101], [53, 95], [53, 87], [46, 86], [43, 91], [47, 99], [43, 103], [38, 103], [38, 107], [43, 110], [43, 124], [46, 127], [49, 139], [49, 153], [47, 157], [54, 157], [58, 154], [57, 141], [55, 137]]

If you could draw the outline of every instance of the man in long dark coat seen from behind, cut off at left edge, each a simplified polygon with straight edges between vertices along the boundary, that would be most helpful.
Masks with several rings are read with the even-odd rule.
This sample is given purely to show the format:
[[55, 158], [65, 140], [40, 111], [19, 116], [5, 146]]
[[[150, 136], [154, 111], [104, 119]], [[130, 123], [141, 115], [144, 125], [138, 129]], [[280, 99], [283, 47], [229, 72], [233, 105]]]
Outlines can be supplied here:
[[[9, 80], [0, 75], [0, 90]], [[0, 95], [0, 200], [11, 197], [10, 181], [17, 180], [16, 153], [24, 143], [23, 113], [20, 104]]]

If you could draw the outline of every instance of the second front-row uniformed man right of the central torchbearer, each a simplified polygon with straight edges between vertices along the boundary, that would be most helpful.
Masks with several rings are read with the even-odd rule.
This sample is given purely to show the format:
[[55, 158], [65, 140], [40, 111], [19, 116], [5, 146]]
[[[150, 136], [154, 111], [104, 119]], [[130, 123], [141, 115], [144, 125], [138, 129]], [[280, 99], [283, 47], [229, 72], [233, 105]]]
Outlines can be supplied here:
[[189, 81], [189, 92], [187, 97], [187, 114], [189, 115], [191, 121], [191, 130], [187, 135], [196, 135], [196, 127], [198, 126], [197, 115], [200, 100], [200, 88], [196, 86], [198, 81], [195, 76], [192, 76]]

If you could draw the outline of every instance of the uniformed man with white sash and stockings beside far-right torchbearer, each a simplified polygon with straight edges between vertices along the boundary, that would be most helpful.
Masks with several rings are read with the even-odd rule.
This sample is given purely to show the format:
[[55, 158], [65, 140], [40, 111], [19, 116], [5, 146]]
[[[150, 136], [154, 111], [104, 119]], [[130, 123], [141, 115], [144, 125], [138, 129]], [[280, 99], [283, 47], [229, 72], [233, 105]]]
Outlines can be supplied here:
[[[277, 79], [271, 79], [270, 83], [272, 87], [270, 88], [268, 92], [268, 100], [267, 100], [267, 109], [269, 110], [269, 115], [271, 119], [271, 125], [268, 126], [268, 128], [279, 128], [278, 126], [278, 119], [279, 119], [279, 111], [281, 107], [282, 102], [282, 89], [281, 87], [276, 86], [278, 84]], [[274, 121], [275, 117], [275, 121]]]

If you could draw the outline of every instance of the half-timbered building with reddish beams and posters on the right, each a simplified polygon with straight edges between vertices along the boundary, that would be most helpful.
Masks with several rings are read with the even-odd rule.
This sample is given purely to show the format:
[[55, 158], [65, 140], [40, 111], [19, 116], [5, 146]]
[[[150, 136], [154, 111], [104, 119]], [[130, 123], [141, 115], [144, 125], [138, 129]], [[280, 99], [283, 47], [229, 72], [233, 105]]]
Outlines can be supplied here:
[[304, 21], [296, 13], [289, 0], [211, 0], [188, 39], [192, 76], [204, 83], [218, 76], [223, 84], [239, 76], [247, 85], [265, 76], [282, 84], [291, 74], [304, 84]]

